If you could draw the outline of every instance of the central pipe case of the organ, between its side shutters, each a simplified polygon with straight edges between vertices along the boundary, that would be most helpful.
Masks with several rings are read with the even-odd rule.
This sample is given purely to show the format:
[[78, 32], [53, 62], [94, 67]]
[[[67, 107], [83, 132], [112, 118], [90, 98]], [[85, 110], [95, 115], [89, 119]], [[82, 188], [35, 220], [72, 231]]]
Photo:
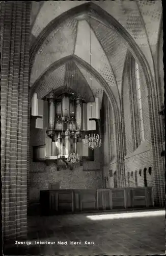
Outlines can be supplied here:
[[82, 130], [82, 99], [66, 86], [60, 94], [54, 95], [52, 91], [47, 101], [46, 133], [49, 144], [53, 144], [54, 154], [66, 163], [79, 162], [77, 142]]

